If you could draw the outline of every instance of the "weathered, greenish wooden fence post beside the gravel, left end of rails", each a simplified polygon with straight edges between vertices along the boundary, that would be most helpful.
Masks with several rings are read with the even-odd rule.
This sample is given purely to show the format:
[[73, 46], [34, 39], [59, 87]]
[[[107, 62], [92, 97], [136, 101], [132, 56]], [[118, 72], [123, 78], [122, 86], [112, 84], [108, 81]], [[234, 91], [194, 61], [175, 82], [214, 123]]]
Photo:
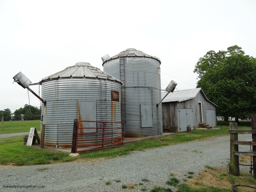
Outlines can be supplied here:
[[[237, 130], [237, 123], [230, 122], [229, 129]], [[238, 141], [238, 133], [230, 133], [230, 174], [240, 176], [239, 156], [233, 155], [233, 151], [238, 151], [238, 145], [233, 145], [233, 141]]]

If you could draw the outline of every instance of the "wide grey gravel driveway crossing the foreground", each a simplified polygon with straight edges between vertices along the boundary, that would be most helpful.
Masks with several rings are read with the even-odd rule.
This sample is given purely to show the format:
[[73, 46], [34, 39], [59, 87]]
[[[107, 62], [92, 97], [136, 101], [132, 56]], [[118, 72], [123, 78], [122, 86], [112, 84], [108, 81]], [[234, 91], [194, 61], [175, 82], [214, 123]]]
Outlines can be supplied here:
[[[251, 134], [239, 135], [240, 141], [247, 141]], [[240, 151], [248, 151], [250, 146], [239, 146]], [[224, 167], [229, 156], [229, 136], [210, 138], [171, 145], [163, 148], [136, 151], [125, 157], [95, 162], [62, 163], [39, 166], [0, 166], [0, 191], [141, 191], [122, 189], [122, 184], [144, 183], [150, 191], [153, 186], [170, 187], [165, 182], [170, 173], [178, 173], [176, 178], [182, 181], [184, 174], [193, 171], [197, 174], [205, 165]], [[47, 168], [39, 172], [37, 169]], [[240, 167], [248, 171], [248, 167]], [[149, 182], [141, 182], [147, 178]], [[115, 180], [120, 180], [116, 183]], [[110, 185], [105, 183], [110, 181]], [[6, 189], [7, 185], [45, 185], [44, 189]], [[176, 190], [173, 187], [170, 187]]]

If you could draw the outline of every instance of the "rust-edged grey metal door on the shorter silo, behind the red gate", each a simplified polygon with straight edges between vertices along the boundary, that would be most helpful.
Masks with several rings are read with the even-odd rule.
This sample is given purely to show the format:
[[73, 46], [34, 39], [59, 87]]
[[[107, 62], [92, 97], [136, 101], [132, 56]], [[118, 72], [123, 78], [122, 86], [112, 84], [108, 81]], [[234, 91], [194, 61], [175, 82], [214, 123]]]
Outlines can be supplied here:
[[[96, 106], [94, 101], [78, 100], [78, 120], [96, 121]], [[82, 124], [82, 125], [81, 125]], [[81, 122], [82, 127], [95, 127], [96, 122]], [[82, 129], [84, 133], [96, 133], [96, 129]]]

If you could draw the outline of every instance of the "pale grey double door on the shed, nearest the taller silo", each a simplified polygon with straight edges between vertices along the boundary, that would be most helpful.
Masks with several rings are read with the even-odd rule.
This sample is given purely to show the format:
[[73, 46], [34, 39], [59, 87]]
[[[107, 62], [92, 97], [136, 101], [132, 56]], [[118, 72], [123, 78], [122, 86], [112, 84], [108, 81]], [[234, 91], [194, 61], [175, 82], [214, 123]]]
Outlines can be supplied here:
[[180, 132], [187, 131], [188, 125], [193, 130], [193, 109], [179, 109], [179, 130]]

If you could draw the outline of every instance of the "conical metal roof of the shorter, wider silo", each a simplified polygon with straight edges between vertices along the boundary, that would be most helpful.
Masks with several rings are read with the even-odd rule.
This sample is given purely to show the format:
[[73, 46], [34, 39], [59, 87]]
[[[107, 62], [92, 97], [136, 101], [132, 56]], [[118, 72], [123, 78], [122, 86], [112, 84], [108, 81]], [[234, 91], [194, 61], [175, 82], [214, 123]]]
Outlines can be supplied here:
[[121, 82], [119, 79], [114, 78], [113, 76], [109, 75], [101, 71], [99, 68], [92, 66], [88, 62], [77, 62], [75, 65], [71, 67], [67, 67], [58, 73], [52, 74], [40, 80], [41, 82], [50, 80], [50, 79], [58, 79], [58, 78], [68, 78], [68, 77], [85, 77], [85, 78], [100, 78], [100, 79], [109, 79], [109, 80], [116, 80]]

